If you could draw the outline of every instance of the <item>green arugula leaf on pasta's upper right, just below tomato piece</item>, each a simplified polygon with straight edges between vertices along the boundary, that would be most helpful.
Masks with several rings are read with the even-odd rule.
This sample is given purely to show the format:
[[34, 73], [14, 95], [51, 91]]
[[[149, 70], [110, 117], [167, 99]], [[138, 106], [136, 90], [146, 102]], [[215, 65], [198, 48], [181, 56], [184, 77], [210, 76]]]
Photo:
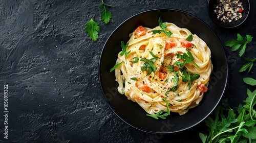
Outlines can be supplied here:
[[179, 67], [182, 67], [183, 65], [185, 65], [186, 63], [193, 63], [195, 64], [198, 68], [200, 68], [195, 62], [194, 62], [194, 57], [193, 55], [191, 54], [191, 52], [189, 52], [187, 49], [186, 49], [186, 52], [187, 53], [183, 53], [183, 55], [177, 53], [177, 57], [183, 61], [176, 61], [175, 62], [175, 65], [178, 65]]

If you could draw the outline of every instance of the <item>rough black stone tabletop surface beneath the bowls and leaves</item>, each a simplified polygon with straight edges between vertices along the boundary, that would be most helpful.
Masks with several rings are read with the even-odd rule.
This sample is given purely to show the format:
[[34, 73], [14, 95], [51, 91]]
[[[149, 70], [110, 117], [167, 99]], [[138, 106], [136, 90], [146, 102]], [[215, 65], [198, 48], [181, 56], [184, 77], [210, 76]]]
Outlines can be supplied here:
[[[179, 9], [202, 19], [221, 42], [237, 33], [255, 38], [245, 57], [255, 58], [255, 9], [251, 2], [248, 20], [238, 29], [216, 26], [208, 16], [207, 1], [105, 0], [114, 23], [100, 21], [100, 0], [0, 1], [0, 141], [1, 142], [201, 142], [204, 123], [174, 135], [155, 135], [124, 123], [103, 100], [98, 62], [106, 39], [125, 19], [155, 8]], [[84, 32], [91, 18], [99, 23], [99, 40]], [[229, 80], [224, 99], [231, 107], [247, 97], [245, 64], [238, 52], [224, 47]], [[110, 55], [115, 56], [115, 55]], [[254, 73], [254, 74], [253, 74]], [[8, 139], [4, 138], [4, 85], [8, 84]], [[134, 117], [136, 120], [136, 117]], [[189, 119], [188, 119], [189, 120]]]

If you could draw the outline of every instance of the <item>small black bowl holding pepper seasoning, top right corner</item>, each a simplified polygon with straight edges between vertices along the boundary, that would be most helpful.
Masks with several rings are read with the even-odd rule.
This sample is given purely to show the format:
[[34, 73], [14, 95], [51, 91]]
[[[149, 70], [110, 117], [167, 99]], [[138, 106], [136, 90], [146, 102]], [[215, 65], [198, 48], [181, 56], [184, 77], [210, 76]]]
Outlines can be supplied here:
[[217, 18], [217, 14], [214, 12], [215, 5], [217, 4], [217, 1], [219, 1], [219, 0], [209, 0], [208, 1], [208, 14], [209, 14], [210, 18], [212, 19], [212, 21], [214, 21], [217, 25], [219, 25], [221, 27], [224, 27], [224, 28], [239, 27], [240, 25], [242, 25], [242, 23], [244, 23], [244, 21], [246, 20], [246, 18], [249, 15], [249, 12], [250, 12], [249, 0], [240, 0], [240, 2], [242, 2], [243, 8], [244, 8], [244, 10], [242, 12], [242, 17], [240, 19], [238, 19], [237, 21], [233, 20], [232, 22], [223, 22]]

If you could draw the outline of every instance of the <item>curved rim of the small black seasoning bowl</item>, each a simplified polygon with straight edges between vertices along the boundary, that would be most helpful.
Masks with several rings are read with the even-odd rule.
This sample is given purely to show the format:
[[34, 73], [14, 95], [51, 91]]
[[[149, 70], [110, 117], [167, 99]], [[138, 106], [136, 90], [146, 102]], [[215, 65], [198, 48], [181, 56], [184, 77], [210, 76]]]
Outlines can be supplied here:
[[[248, 2], [248, 13], [246, 14], [244, 20], [241, 21], [240, 23], [238, 23], [237, 25], [234, 25], [234, 26], [220, 25], [220, 23], [217, 22], [217, 21], [212, 17], [212, 14], [211, 14], [211, 12], [210, 12], [210, 10], [209, 10], [209, 6], [210, 6], [209, 3], [210, 3], [210, 1], [213, 1], [213, 0], [208, 0], [208, 3], [207, 3], [208, 15], [209, 15], [210, 19], [211, 19], [212, 21], [214, 21], [214, 23], [216, 23], [216, 25], [218, 25], [218, 26], [220, 26], [220, 27], [223, 27], [223, 28], [230, 28], [230, 29], [231, 29], [231, 28], [237, 28], [237, 27], [241, 26], [241, 25], [246, 21], [246, 19], [247, 19], [248, 16], [249, 16], [249, 13], [250, 13], [250, 1], [249, 1], [249, 0], [245, 0], [245, 2]], [[224, 23], [224, 22], [223, 22], [223, 23]]]

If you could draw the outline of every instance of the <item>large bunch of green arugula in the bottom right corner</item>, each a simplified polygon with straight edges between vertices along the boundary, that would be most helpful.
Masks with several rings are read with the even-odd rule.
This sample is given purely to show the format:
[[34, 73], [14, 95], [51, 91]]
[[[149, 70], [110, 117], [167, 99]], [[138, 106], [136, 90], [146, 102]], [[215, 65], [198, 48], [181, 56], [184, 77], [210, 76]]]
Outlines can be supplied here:
[[[250, 80], [250, 79], [248, 79]], [[206, 126], [209, 133], [199, 133], [203, 143], [206, 142], [252, 142], [256, 139], [256, 89], [247, 89], [248, 98], [237, 108], [237, 113], [230, 109], [227, 116], [220, 106], [215, 110], [215, 118], [207, 117]]]

